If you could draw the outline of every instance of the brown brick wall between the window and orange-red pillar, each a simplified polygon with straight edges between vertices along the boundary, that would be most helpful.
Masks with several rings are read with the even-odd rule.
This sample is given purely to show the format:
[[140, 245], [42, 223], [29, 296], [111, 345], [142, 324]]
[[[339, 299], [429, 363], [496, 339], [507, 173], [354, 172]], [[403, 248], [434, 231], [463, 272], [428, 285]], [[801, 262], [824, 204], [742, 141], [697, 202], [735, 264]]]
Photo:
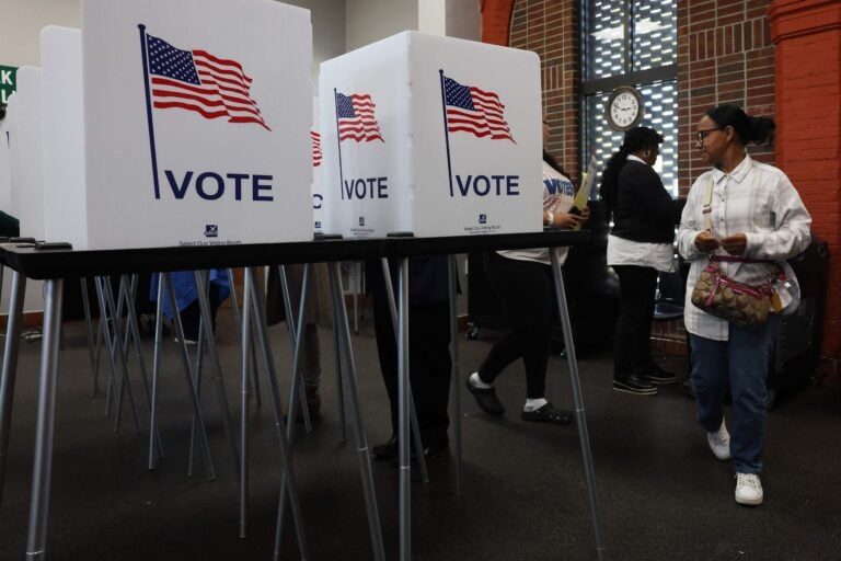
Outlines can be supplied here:
[[[704, 171], [693, 138], [704, 112], [733, 103], [749, 115], [774, 114], [770, 0], [678, 1], [678, 185], [681, 195]], [[773, 149], [752, 147], [773, 163]]]

